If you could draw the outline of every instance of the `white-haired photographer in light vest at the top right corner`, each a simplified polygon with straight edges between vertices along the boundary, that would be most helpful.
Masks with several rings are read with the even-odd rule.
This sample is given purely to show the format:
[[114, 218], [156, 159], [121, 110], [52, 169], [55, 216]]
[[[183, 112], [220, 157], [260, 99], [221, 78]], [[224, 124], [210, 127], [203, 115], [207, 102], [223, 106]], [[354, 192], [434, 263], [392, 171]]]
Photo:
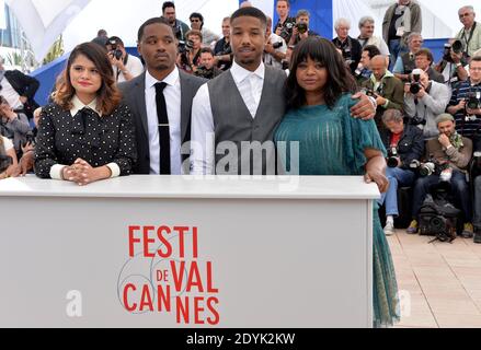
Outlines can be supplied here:
[[474, 52], [481, 48], [481, 23], [476, 22], [474, 8], [471, 5], [459, 9], [459, 21], [462, 30], [456, 36], [461, 40], [466, 57], [474, 57]]

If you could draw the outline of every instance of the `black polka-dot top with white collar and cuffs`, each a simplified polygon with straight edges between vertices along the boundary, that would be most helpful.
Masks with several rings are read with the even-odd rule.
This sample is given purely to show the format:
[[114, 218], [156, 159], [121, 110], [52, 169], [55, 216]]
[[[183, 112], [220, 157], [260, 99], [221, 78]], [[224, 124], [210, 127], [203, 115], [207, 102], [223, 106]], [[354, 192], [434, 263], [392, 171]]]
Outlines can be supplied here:
[[72, 116], [57, 104], [42, 110], [35, 148], [38, 177], [50, 178], [51, 166], [72, 165], [79, 158], [92, 167], [116, 163], [121, 175], [131, 173], [137, 149], [130, 109], [119, 105], [106, 116], [92, 109], [82, 116], [83, 110]]

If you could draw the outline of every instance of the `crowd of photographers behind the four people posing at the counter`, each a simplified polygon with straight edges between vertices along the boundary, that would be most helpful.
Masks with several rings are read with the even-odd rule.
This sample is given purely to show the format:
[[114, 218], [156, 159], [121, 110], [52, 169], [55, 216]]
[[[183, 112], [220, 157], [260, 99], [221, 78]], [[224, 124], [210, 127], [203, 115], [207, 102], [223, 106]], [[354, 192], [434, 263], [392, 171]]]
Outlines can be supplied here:
[[[272, 19], [267, 23], [264, 63], [287, 71], [296, 45], [318, 34], [310, 28], [307, 10], [291, 16], [289, 1], [278, 0], [276, 11], [277, 23]], [[180, 69], [205, 79], [215, 79], [230, 69], [233, 54], [229, 18], [222, 20], [222, 36], [218, 37], [204, 26], [201, 13], [190, 15], [190, 26], [177, 20], [173, 2], [163, 3], [162, 16], [179, 42], [176, 63]], [[443, 194], [443, 200], [453, 205], [450, 214], [458, 209], [461, 215], [456, 217], [458, 221], [443, 218], [437, 230], [444, 224], [446, 233], [461, 223], [459, 232], [481, 243], [481, 176], [478, 176], [481, 174], [481, 24], [476, 22], [472, 7], [461, 8], [459, 20], [462, 28], [446, 43], [438, 62], [423, 46], [422, 13], [414, 0], [397, 0], [387, 10], [381, 37], [374, 35], [376, 23], [370, 16], [360, 19], [360, 34], [356, 38], [350, 36], [348, 20], [335, 21], [336, 37], [332, 43], [359, 90], [377, 104], [375, 120], [388, 150], [390, 188], [379, 201], [386, 207], [385, 232], [388, 235], [393, 233], [394, 219], [400, 215], [399, 188], [411, 187], [409, 233], [423, 233], [428, 230], [426, 225], [434, 225], [434, 220], [426, 223], [428, 217], [423, 215], [423, 210], [426, 202], [436, 202]], [[144, 62], [127, 54], [122, 38], [108, 37], [105, 31], [100, 31], [93, 42], [106, 48], [118, 83], [144, 72]], [[33, 166], [35, 128], [28, 122], [34, 117], [33, 109], [9, 103], [12, 96], [5, 93], [14, 91], [12, 86], [16, 88], [13, 83], [5, 84], [9, 77], [0, 70], [3, 89], [0, 93], [0, 131], [4, 137], [0, 154], [2, 177], [14, 175], [15, 168], [5, 166], [7, 145], [9, 151], [14, 150], [13, 163], [20, 164], [16, 168], [25, 173]], [[33, 102], [38, 84], [35, 85], [32, 79], [22, 84], [16, 100], [28, 106], [27, 101]]]

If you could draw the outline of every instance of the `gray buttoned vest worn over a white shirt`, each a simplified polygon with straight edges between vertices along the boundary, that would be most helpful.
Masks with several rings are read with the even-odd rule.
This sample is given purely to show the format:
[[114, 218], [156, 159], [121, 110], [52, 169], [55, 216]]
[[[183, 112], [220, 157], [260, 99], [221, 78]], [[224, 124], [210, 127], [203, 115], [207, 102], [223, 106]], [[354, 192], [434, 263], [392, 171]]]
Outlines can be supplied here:
[[284, 71], [265, 67], [255, 118], [245, 106], [230, 71], [208, 82], [218, 175], [276, 174], [273, 136], [286, 112], [285, 81]]

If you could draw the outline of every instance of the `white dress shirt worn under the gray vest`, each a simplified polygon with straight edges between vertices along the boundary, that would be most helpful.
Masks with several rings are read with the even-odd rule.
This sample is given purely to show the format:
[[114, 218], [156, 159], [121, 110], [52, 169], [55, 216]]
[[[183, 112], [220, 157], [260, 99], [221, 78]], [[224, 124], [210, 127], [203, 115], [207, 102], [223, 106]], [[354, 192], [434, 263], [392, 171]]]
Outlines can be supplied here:
[[[230, 73], [252, 118], [255, 118], [264, 88], [264, 63], [261, 63], [254, 72], [251, 72], [234, 61]], [[209, 90], [207, 84], [204, 84], [195, 95], [192, 105], [192, 175], [215, 174], [214, 135], [214, 116]]]

